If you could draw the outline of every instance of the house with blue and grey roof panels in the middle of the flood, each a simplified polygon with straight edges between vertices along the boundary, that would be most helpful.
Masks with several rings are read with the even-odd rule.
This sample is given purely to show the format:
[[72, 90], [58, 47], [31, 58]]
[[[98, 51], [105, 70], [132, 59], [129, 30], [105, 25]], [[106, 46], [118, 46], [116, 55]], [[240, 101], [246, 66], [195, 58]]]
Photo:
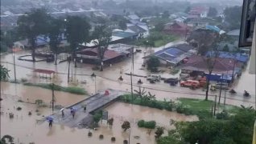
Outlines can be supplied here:
[[162, 65], [165, 66], [178, 66], [184, 61], [184, 59], [191, 57], [195, 54], [194, 47], [188, 44], [180, 44], [176, 46], [171, 46], [163, 50], [159, 50], [154, 54], [150, 54], [144, 58], [146, 62], [152, 56], [159, 58]]

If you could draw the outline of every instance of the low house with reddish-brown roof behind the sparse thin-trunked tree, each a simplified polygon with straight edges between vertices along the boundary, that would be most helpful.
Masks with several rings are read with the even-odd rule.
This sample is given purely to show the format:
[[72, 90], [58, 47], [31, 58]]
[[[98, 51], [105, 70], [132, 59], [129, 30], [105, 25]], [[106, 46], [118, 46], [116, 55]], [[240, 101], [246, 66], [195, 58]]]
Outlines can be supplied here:
[[[89, 48], [76, 52], [76, 61], [81, 63], [99, 64], [101, 63], [100, 58], [97, 57], [97, 48]], [[104, 65], [119, 62], [126, 55], [118, 53], [114, 50], [105, 50], [103, 63]]]

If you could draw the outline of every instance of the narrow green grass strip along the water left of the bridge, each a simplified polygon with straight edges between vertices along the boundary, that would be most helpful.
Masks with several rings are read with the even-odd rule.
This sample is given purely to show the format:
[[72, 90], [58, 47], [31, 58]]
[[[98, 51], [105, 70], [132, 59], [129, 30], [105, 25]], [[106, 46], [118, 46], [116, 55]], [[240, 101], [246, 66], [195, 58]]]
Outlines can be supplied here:
[[[46, 83], [24, 83], [23, 85], [25, 86], [37, 86], [37, 87], [41, 87], [44, 89], [49, 89], [52, 90], [52, 84], [46, 84]], [[68, 92], [71, 94], [87, 94], [87, 92], [80, 87], [76, 87], [76, 86], [57, 86], [54, 85], [53, 86], [53, 90], [57, 90], [57, 91], [64, 91], [64, 92]]]

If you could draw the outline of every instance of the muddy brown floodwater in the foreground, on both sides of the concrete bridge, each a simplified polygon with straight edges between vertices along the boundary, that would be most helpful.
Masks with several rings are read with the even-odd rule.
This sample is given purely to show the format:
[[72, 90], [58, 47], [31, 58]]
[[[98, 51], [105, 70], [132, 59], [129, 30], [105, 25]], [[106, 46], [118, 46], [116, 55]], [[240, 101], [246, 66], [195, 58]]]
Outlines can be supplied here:
[[[29, 102], [35, 102], [35, 99], [43, 99], [44, 102], [50, 102], [52, 93], [51, 90], [37, 88], [33, 86], [23, 86], [20, 84], [1, 83], [3, 98], [1, 102], [1, 135], [10, 134], [14, 137], [15, 143], [29, 143], [35, 142], [36, 144], [82, 144], [82, 143], [95, 143], [95, 144], [110, 144], [111, 137], [116, 138], [117, 144], [121, 144], [124, 139], [129, 138], [130, 142], [142, 144], [155, 144], [154, 132], [147, 134], [147, 129], [138, 128], [135, 122], [139, 119], [155, 120], [157, 125], [165, 126], [167, 129], [173, 128], [169, 125], [170, 119], [176, 121], [196, 121], [196, 116], [185, 116], [183, 114], [176, 114], [175, 112], [168, 112], [165, 110], [157, 110], [143, 106], [134, 106], [122, 102], [115, 102], [113, 105], [108, 106], [105, 110], [109, 111], [109, 118], [114, 118], [114, 126], [109, 129], [106, 122], [103, 121], [101, 127], [93, 132], [92, 137], [88, 137], [88, 129], [69, 128], [67, 126], [60, 126], [53, 123], [52, 129], [48, 127], [47, 122], [36, 123], [36, 120], [42, 119], [43, 115], [47, 116], [52, 114], [49, 107], [38, 108], [34, 104], [25, 102], [18, 102], [19, 99]], [[75, 102], [79, 102], [85, 98], [83, 95], [68, 94], [63, 92], [56, 92], [57, 104], [62, 106], [69, 106]], [[20, 106], [22, 110], [16, 110]], [[38, 109], [39, 112], [35, 112]], [[32, 112], [28, 116], [28, 111]], [[14, 113], [14, 118], [10, 119], [8, 113]], [[40, 115], [38, 115], [40, 114]], [[131, 129], [123, 132], [121, 125], [122, 122], [128, 120], [131, 122]], [[99, 135], [103, 134], [104, 139], [100, 140]], [[167, 134], [167, 131], [165, 132]], [[135, 139], [134, 136], [139, 136]]]

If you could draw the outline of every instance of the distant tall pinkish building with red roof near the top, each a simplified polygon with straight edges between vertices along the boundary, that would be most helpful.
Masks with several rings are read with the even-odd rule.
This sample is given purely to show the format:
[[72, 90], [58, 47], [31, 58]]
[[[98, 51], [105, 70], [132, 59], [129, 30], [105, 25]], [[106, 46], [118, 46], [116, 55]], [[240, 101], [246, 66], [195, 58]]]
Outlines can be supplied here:
[[192, 9], [188, 12], [189, 18], [206, 18], [209, 9], [202, 6], [192, 7]]

